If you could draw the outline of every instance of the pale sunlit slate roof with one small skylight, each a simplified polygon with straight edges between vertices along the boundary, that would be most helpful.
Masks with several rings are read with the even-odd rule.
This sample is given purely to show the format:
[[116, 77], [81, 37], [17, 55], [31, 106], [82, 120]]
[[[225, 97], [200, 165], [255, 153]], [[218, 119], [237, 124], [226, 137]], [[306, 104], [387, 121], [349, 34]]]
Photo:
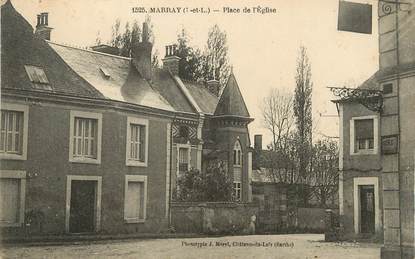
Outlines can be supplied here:
[[108, 99], [173, 111], [138, 73], [131, 59], [49, 42], [60, 57]]

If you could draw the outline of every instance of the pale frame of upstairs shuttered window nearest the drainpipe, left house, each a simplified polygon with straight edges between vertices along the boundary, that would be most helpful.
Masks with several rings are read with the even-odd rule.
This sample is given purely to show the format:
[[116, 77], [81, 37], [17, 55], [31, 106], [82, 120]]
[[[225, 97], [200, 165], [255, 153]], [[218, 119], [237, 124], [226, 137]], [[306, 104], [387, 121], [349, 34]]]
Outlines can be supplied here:
[[[130, 145], [130, 139], [131, 139], [131, 124], [136, 125], [142, 125], [145, 127], [145, 142], [144, 142], [144, 161], [139, 161], [130, 158], [130, 152], [131, 152], [131, 145]], [[148, 127], [149, 127], [149, 121], [147, 119], [142, 118], [136, 118], [136, 117], [127, 117], [127, 138], [125, 141], [126, 145], [126, 153], [125, 153], [125, 164], [127, 166], [142, 166], [147, 167], [148, 165]]]

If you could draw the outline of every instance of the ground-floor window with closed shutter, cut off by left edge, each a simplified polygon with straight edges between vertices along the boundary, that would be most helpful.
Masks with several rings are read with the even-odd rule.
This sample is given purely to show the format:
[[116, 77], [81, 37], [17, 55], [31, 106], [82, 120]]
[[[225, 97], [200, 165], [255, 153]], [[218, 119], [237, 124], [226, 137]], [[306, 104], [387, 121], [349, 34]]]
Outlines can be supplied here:
[[24, 222], [26, 172], [0, 171], [0, 226]]

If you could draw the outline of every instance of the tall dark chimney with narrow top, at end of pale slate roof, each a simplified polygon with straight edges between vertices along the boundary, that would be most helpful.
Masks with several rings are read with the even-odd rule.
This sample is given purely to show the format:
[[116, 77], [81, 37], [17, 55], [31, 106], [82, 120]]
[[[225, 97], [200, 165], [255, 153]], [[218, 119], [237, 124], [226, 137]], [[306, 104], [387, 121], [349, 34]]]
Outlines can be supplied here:
[[149, 41], [148, 24], [143, 23], [141, 42], [132, 47], [131, 56], [134, 66], [146, 80], [151, 79], [151, 50], [153, 44]]

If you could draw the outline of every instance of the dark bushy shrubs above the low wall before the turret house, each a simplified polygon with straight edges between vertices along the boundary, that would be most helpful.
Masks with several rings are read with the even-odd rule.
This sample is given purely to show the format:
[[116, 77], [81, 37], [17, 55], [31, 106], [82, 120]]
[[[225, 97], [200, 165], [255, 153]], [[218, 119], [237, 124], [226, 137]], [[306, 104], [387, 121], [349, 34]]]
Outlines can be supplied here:
[[179, 177], [176, 199], [178, 201], [231, 201], [232, 180], [226, 162], [210, 162], [206, 172], [191, 169]]

